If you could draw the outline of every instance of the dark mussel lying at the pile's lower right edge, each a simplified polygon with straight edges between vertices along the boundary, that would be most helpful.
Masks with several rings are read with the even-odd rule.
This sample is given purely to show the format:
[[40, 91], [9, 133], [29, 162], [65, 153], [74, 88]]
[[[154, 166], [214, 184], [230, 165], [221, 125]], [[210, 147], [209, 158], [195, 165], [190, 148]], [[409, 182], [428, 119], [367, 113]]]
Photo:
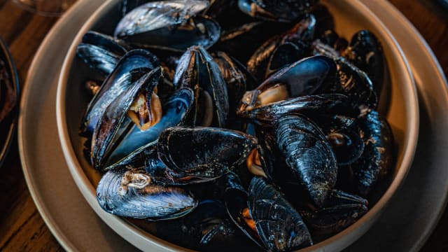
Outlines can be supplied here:
[[367, 212], [367, 200], [333, 190], [321, 209], [298, 210], [313, 235], [331, 235], [355, 223]]

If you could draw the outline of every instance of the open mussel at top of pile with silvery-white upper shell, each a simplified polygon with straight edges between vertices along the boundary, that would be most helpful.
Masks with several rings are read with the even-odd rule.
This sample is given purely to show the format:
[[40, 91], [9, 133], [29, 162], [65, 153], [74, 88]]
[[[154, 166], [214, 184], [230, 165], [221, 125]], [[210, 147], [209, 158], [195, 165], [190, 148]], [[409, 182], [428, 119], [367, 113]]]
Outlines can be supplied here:
[[120, 20], [114, 36], [141, 48], [178, 52], [192, 45], [209, 48], [218, 41], [221, 27], [209, 17], [195, 16], [208, 4], [204, 0], [145, 3]]

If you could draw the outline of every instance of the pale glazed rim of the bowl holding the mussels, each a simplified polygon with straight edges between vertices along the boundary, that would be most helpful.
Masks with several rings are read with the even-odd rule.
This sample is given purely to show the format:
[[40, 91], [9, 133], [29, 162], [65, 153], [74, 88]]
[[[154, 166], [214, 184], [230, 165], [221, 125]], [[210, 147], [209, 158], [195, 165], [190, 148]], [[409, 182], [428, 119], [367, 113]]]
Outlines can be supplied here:
[[[78, 158], [76, 157], [76, 153], [73, 150], [73, 146], [71, 145], [71, 139], [69, 137], [68, 128], [66, 127], [66, 85], [68, 83], [69, 73], [71, 66], [73, 64], [73, 59], [76, 57], [76, 46], [82, 40], [83, 34], [86, 31], [90, 30], [90, 27], [94, 25], [95, 22], [99, 19], [99, 17], [108, 13], [111, 8], [115, 8], [116, 4], [119, 0], [107, 0], [105, 1], [94, 13], [90, 16], [90, 18], [85, 22], [83, 27], [81, 27], [73, 39], [73, 43], [71, 43], [70, 48], [64, 58], [64, 63], [62, 65], [61, 72], [59, 74], [59, 80], [57, 83], [57, 98], [56, 98], [56, 118], [57, 118], [57, 130], [59, 134], [59, 141], [62, 146], [62, 151], [64, 153], [64, 158], [69, 167], [71, 176], [73, 176], [73, 180], [76, 182], [76, 186], [82, 193], [85, 200], [90, 204], [90, 207], [95, 211], [95, 213], [104, 221], [109, 227], [111, 227], [115, 232], [118, 233], [121, 237], [129, 241], [131, 244], [136, 246], [142, 250], [148, 250], [148, 244], [151, 244], [151, 250], [163, 250], [163, 251], [185, 251], [186, 248], [181, 246], [177, 246], [176, 244], [172, 244], [169, 241], [165, 241], [154, 235], [141, 230], [137, 226], [128, 223], [123, 218], [118, 216], [114, 216], [112, 214], [106, 213], [99, 204], [97, 204], [96, 199], [96, 188], [92, 186], [90, 180], [87, 178], [83, 169], [81, 168], [80, 163], [78, 162]], [[387, 27], [377, 18], [376, 15], [372, 13], [363, 3], [360, 1], [350, 1], [350, 0], [342, 0], [356, 10], [367, 19], [372, 20], [378, 27], [379, 33], [378, 36], [383, 38], [383, 43], [388, 43], [391, 48], [394, 48], [396, 60], [400, 62], [398, 69], [402, 70], [400, 74], [400, 78], [403, 78], [401, 85], [402, 97], [405, 99], [409, 99], [409, 102], [405, 103], [405, 111], [409, 113], [407, 119], [407, 127], [405, 128], [405, 132], [409, 135], [407, 139], [405, 139], [403, 143], [403, 156], [400, 167], [398, 167], [398, 172], [395, 174], [395, 177], [391, 181], [391, 184], [388, 186], [387, 190], [383, 195], [379, 198], [379, 200], [374, 204], [374, 206], [367, 211], [367, 213], [361, 217], [356, 223], [353, 223], [348, 228], [342, 230], [341, 232], [325, 239], [323, 241], [314, 244], [313, 246], [309, 246], [307, 248], [303, 248], [302, 251], [314, 251], [314, 250], [327, 250], [327, 249], [343, 249], [349, 244], [353, 243], [358, 239], [361, 235], [363, 235], [368, 228], [372, 226], [374, 221], [380, 216], [386, 204], [391, 200], [391, 197], [395, 194], [395, 192], [400, 188], [409, 169], [412, 165], [412, 160], [414, 158], [414, 153], [416, 151], [416, 143], [418, 140], [419, 134], [419, 105], [417, 99], [416, 85], [414, 84], [414, 78], [411, 74], [411, 70], [409, 64], [407, 63], [407, 59], [398, 45], [398, 42], [392, 36], [391, 32], [387, 29]], [[395, 51], [396, 50], [396, 51]], [[350, 235], [351, 234], [351, 235]]]

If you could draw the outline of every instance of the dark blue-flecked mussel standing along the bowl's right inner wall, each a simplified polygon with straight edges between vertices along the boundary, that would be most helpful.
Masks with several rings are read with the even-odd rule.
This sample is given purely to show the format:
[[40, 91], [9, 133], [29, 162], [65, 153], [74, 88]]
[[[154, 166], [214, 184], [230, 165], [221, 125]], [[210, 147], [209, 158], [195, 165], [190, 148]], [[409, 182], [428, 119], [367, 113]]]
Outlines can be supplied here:
[[377, 111], [360, 118], [360, 128], [364, 132], [365, 148], [351, 169], [358, 193], [366, 196], [391, 170], [395, 153], [391, 127]]

